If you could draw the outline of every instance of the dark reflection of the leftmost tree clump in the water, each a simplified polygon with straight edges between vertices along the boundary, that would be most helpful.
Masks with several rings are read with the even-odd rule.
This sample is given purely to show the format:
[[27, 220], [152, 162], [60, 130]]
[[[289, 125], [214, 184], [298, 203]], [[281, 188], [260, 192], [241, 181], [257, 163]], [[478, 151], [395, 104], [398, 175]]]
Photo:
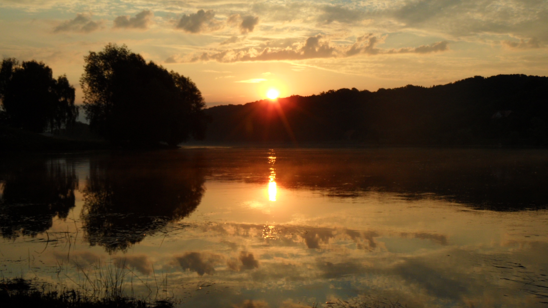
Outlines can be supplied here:
[[2, 159], [0, 163], [0, 234], [36, 236], [66, 218], [75, 206], [75, 163], [46, 157]]

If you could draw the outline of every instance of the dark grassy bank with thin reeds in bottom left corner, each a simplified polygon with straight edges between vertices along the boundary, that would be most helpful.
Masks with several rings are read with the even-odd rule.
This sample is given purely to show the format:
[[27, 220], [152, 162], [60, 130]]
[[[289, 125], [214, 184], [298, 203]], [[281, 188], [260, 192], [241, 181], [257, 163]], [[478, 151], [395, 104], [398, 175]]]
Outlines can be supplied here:
[[[167, 274], [158, 282], [155, 276], [155, 292], [147, 280], [142, 280], [125, 265], [106, 264], [97, 261], [87, 267], [78, 264], [76, 276], [68, 276], [62, 269], [58, 272], [59, 283], [39, 281], [38, 278], [2, 278], [0, 280], [0, 303], [3, 308], [168, 308], [176, 300], [169, 298]], [[61, 266], [60, 266], [61, 267]], [[61, 280], [65, 277], [68, 281]], [[135, 296], [134, 281], [142, 284], [147, 293]]]

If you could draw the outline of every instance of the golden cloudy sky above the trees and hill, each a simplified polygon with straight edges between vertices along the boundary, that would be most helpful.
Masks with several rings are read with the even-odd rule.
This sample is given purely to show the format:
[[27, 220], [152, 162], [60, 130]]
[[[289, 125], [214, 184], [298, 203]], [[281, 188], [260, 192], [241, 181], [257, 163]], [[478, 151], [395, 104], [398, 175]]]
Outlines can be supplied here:
[[125, 44], [208, 106], [329, 89], [548, 75], [546, 0], [0, 0], [0, 54], [66, 74]]

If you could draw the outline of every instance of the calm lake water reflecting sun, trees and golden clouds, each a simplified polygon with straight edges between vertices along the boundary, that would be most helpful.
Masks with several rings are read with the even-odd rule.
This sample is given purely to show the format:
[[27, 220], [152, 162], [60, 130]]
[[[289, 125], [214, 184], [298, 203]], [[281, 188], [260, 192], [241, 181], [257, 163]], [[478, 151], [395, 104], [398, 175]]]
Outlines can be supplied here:
[[546, 150], [2, 157], [0, 271], [123, 269], [182, 307], [548, 307], [547, 186]]

